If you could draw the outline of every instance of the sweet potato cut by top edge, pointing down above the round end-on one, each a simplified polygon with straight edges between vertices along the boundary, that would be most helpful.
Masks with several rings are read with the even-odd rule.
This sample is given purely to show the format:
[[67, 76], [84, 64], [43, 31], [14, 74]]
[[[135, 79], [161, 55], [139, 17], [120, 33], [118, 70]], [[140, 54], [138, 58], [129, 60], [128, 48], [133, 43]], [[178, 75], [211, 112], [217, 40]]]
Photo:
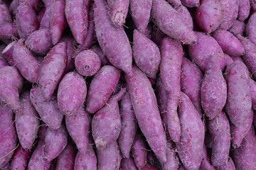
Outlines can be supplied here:
[[65, 17], [75, 40], [82, 44], [88, 28], [88, 11], [90, 0], [66, 0]]

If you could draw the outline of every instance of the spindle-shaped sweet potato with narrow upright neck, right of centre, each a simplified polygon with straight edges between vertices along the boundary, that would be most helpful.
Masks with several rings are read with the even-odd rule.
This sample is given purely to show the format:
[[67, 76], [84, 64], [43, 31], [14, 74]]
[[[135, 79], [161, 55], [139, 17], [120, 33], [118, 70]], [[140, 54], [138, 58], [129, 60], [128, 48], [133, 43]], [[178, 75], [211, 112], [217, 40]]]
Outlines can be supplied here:
[[221, 113], [227, 100], [227, 84], [220, 69], [218, 56], [213, 55], [208, 62], [201, 86], [203, 111], [210, 119]]

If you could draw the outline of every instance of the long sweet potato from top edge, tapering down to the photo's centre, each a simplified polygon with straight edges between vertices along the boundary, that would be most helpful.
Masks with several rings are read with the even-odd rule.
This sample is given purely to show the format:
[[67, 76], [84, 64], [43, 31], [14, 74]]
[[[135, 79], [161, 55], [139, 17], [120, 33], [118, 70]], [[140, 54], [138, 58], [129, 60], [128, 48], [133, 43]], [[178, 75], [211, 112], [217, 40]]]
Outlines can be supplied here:
[[126, 74], [132, 74], [132, 47], [124, 28], [112, 24], [105, 0], [96, 0], [93, 11], [97, 40], [107, 59]]

